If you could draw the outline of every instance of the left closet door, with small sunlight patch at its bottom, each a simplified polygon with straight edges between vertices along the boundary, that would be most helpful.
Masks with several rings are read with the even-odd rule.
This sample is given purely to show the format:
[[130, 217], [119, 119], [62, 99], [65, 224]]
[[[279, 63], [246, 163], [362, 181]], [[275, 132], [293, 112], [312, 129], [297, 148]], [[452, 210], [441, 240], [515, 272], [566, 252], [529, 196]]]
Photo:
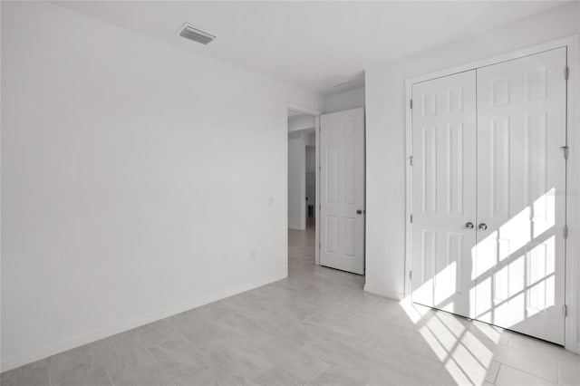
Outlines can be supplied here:
[[412, 101], [412, 301], [469, 316], [476, 72], [413, 84]]

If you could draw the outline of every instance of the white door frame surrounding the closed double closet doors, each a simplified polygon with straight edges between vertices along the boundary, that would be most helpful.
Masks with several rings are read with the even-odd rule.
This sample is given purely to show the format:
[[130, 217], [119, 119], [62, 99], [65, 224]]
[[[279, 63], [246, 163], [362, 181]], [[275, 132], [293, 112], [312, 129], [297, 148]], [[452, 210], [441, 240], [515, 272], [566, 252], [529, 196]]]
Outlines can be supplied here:
[[[547, 43], [536, 44], [510, 53], [495, 55], [486, 59], [449, 68], [438, 72], [430, 72], [405, 80], [405, 271], [404, 271], [404, 302], [411, 302], [411, 202], [412, 202], [412, 85], [418, 82], [430, 81], [458, 72], [475, 70], [492, 64], [506, 62], [542, 53], [556, 48], [566, 48], [569, 77], [567, 82], [566, 102], [566, 145], [569, 147], [569, 158], [566, 163], [566, 204], [565, 222], [568, 227], [568, 237], [565, 239], [565, 349], [580, 353], [580, 109], [575, 109], [574, 91], [580, 91], [580, 76], [578, 68], [578, 35], [574, 34]], [[564, 76], [564, 74], [563, 74]], [[576, 97], [579, 97], [576, 95]], [[570, 195], [570, 192], [573, 194]]]

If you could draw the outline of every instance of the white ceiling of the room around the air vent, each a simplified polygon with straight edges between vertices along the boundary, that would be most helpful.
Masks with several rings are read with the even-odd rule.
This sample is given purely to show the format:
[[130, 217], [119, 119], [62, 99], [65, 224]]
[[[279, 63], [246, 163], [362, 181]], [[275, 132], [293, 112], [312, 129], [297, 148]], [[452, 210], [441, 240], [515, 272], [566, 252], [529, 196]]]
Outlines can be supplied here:
[[[562, 2], [56, 4], [185, 50], [332, 95], [361, 86], [365, 68], [507, 24]], [[185, 22], [215, 34], [217, 39], [201, 45], [180, 37], [176, 32]]]

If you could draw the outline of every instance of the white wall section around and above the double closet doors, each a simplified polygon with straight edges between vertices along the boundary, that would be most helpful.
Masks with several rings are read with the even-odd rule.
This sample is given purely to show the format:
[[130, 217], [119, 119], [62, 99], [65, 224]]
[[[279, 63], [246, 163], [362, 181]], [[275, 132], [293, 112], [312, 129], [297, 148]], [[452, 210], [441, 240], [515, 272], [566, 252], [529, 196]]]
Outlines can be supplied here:
[[404, 292], [405, 80], [575, 34], [576, 6], [559, 6], [366, 70], [367, 290], [395, 298]]

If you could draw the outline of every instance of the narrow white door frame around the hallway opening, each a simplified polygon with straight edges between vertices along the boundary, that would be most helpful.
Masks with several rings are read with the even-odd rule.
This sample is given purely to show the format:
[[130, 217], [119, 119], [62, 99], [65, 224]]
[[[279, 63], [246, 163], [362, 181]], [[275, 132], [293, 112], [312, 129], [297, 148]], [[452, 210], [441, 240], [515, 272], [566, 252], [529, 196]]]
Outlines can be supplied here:
[[316, 169], [316, 202], [317, 207], [314, 208], [316, 213], [315, 220], [314, 220], [314, 235], [315, 235], [315, 246], [314, 246], [314, 264], [320, 265], [320, 116], [322, 114], [321, 111], [315, 111], [312, 109], [308, 109], [306, 107], [297, 105], [295, 103], [286, 102], [285, 105], [285, 147], [284, 147], [284, 164], [285, 164], [285, 179], [284, 179], [284, 265], [285, 265], [285, 276], [288, 275], [288, 111], [300, 111], [305, 115], [310, 115], [314, 117], [314, 136], [315, 136], [315, 145], [316, 148], [314, 150], [315, 154], [315, 169]]

